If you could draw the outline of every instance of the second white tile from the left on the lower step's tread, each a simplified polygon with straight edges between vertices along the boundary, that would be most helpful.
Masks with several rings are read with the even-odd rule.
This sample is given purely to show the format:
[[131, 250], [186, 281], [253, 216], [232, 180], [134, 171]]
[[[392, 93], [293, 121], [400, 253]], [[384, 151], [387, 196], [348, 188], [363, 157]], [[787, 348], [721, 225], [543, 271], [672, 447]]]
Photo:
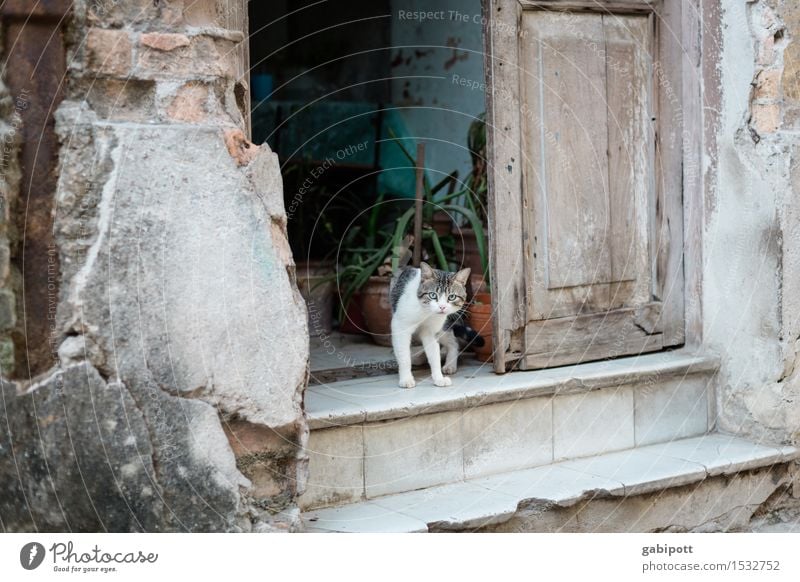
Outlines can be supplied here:
[[499, 523], [517, 510], [513, 497], [469, 483], [451, 483], [372, 501], [437, 529], [469, 529]]

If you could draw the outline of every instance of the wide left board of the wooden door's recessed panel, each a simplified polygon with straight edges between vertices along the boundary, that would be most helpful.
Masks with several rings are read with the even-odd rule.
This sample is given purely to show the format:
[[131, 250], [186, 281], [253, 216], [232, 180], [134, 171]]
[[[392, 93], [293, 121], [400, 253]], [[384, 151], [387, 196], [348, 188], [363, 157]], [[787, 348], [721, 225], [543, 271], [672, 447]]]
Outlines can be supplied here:
[[533, 267], [542, 266], [547, 290], [609, 282], [605, 61], [592, 48], [603, 45], [602, 17], [526, 11], [522, 35], [524, 143], [539, 148], [523, 178], [534, 209]]

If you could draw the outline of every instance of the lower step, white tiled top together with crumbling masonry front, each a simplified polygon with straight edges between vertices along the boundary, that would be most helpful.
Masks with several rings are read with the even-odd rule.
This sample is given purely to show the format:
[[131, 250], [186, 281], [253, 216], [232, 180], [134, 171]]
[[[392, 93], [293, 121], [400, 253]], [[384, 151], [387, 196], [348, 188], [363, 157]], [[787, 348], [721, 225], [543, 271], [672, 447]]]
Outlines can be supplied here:
[[[714, 505], [713, 512], [709, 508], [704, 510], [711, 512], [711, 517], [741, 510], [743, 502], [739, 497], [742, 496], [747, 496], [754, 511], [784, 479], [775, 475], [752, 477], [746, 472], [769, 472], [776, 466], [785, 469], [786, 464], [798, 457], [800, 450], [794, 447], [763, 445], [729, 435], [710, 434], [320, 509], [305, 513], [303, 522], [306, 531], [319, 532], [656, 531], [674, 524], [669, 523], [667, 516], [654, 513], [647, 520], [641, 521], [644, 517], [640, 516], [639, 521], [634, 519], [626, 525], [618, 523], [619, 519], [613, 517], [614, 511], [607, 508], [601, 513], [609, 523], [590, 521], [583, 529], [577, 521], [569, 527], [565, 522], [562, 527], [558, 526], [558, 520], [540, 518], [543, 512], [551, 510], [556, 513], [570, 510], [563, 515], [574, 518], [578, 509], [573, 508], [586, 502], [601, 500], [622, 507], [628, 500], [643, 500], [653, 493], [661, 498], [666, 490], [673, 488], [708, 485], [724, 489], [732, 487], [742, 475], [738, 493], [732, 492], [729, 496], [698, 494], [697, 498], [709, 508]], [[732, 475], [735, 477], [731, 478]], [[686, 507], [686, 495], [682, 495], [683, 506], [673, 505], [675, 515], [679, 510], [686, 513], [692, 509]], [[726, 502], [731, 504], [730, 508], [718, 507]], [[641, 509], [645, 514], [654, 511], [652, 502], [645, 506], [647, 509]], [[683, 521], [677, 520], [682, 524], [678, 529], [692, 529], [714, 521], [711, 517], [703, 520], [697, 508], [693, 511], [697, 523], [692, 525], [684, 516], [681, 517]], [[734, 518], [741, 518], [737, 515], [732, 514], [734, 521], [731, 523], [735, 523]], [[724, 529], [727, 526], [720, 525], [723, 521], [714, 522], [717, 524], [714, 527]]]

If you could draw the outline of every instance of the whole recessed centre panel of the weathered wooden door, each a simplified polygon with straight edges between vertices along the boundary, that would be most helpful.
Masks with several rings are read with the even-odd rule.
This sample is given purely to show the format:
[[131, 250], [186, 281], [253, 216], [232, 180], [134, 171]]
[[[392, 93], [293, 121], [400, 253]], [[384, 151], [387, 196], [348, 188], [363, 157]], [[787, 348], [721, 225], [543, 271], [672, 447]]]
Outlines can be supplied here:
[[531, 320], [650, 300], [646, 24], [543, 11], [523, 18], [530, 58], [521, 62], [538, 73], [523, 83]]

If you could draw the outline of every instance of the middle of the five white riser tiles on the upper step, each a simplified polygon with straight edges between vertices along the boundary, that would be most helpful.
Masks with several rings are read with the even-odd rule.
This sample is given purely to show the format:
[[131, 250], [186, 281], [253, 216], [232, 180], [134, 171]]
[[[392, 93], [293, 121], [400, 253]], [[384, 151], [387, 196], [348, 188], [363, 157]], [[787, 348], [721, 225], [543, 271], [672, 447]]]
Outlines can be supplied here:
[[467, 479], [546, 465], [553, 460], [549, 397], [478, 406], [462, 419]]

